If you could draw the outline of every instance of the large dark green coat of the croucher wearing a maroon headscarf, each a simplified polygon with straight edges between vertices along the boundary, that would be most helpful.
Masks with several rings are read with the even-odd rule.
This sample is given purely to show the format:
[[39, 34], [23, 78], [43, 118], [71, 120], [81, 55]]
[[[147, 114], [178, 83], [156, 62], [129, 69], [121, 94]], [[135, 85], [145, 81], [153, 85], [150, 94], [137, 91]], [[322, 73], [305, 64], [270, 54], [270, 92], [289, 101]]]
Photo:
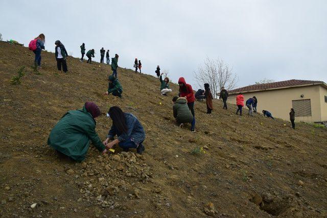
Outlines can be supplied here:
[[48, 144], [74, 160], [85, 159], [90, 140], [102, 152], [105, 150], [97, 132], [96, 121], [83, 107], [68, 111], [51, 130]]

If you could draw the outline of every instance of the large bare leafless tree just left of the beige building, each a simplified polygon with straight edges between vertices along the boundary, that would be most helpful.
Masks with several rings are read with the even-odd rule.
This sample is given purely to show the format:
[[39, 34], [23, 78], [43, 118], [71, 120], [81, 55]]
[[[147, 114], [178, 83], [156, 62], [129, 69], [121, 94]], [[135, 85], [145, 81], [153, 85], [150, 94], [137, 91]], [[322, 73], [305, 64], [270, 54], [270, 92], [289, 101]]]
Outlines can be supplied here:
[[238, 82], [238, 77], [233, 74], [232, 67], [224, 60], [208, 57], [203, 61], [203, 65], [198, 66], [198, 70], [194, 72], [194, 77], [200, 87], [203, 87], [204, 83], [208, 83], [215, 98], [219, 96], [222, 87], [230, 90], [235, 88]]

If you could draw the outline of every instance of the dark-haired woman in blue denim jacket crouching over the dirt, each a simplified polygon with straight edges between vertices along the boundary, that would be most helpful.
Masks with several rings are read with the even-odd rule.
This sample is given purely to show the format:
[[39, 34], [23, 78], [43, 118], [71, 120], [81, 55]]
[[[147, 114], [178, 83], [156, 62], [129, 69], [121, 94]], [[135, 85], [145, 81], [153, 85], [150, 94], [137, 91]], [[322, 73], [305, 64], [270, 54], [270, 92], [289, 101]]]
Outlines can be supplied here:
[[[112, 119], [112, 126], [107, 139], [103, 142], [104, 146], [110, 149], [118, 143], [119, 147], [125, 152], [128, 152], [131, 148], [135, 148], [138, 154], [142, 154], [145, 150], [143, 146], [145, 132], [138, 119], [131, 113], [124, 113], [117, 106], [109, 108], [107, 116]], [[118, 138], [114, 139], [115, 135]], [[109, 140], [113, 141], [109, 142]]]

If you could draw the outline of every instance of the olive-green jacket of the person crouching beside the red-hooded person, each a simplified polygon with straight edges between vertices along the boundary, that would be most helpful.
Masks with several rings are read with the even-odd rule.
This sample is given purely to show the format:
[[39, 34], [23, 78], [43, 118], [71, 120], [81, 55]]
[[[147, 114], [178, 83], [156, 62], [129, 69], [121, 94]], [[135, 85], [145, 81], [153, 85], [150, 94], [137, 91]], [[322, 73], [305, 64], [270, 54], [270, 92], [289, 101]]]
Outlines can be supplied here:
[[178, 98], [173, 106], [174, 117], [177, 123], [191, 123], [193, 115], [188, 107], [188, 101], [185, 98]]

